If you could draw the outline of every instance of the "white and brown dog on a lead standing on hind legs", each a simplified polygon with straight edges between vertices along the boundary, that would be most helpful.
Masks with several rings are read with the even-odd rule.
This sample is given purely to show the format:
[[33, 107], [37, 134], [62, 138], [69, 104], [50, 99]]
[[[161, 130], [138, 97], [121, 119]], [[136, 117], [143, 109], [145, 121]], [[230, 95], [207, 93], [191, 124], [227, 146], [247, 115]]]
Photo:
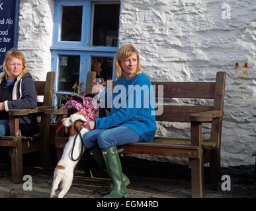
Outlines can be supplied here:
[[[77, 130], [75, 129], [75, 127], [80, 131], [82, 137], [85, 133], [88, 132], [88, 130], [85, 129], [85, 127], [83, 127], [83, 122], [76, 121], [77, 119], [86, 121], [85, 117], [81, 115], [81, 113], [79, 112], [70, 115], [70, 117], [68, 118], [62, 119], [62, 124], [65, 127], [71, 126], [71, 129], [69, 131], [70, 133], [69, 140], [67, 144], [65, 144], [62, 158], [58, 162], [58, 165], [56, 166], [56, 169], [54, 171], [54, 181], [52, 182], [52, 193], [50, 195], [51, 198], [56, 196], [56, 191], [60, 183], [62, 184], [61, 185], [62, 190], [58, 194], [58, 198], [63, 198], [64, 195], [69, 190], [69, 188], [71, 187], [71, 184], [73, 181], [73, 171], [75, 169], [77, 162], [79, 162], [79, 159], [76, 160], [76, 158], [78, 158], [79, 155], [81, 154], [81, 148], [83, 147], [83, 141], [81, 140], [80, 136], [77, 135]], [[75, 127], [74, 127], [74, 123], [75, 123]], [[75, 140], [76, 136], [77, 138]], [[74, 141], [75, 141], [75, 146], [73, 146]], [[73, 151], [73, 154], [71, 154], [72, 151]], [[84, 151], [85, 149], [83, 148], [83, 152]], [[76, 161], [73, 161], [72, 158]]]

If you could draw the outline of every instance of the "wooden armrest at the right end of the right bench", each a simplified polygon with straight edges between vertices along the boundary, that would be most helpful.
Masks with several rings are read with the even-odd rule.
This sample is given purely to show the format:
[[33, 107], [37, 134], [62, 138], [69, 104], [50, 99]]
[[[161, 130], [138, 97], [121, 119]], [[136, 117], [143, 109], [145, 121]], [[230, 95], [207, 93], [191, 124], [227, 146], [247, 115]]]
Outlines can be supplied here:
[[214, 118], [223, 117], [224, 111], [205, 111], [189, 115], [190, 121], [212, 121]]

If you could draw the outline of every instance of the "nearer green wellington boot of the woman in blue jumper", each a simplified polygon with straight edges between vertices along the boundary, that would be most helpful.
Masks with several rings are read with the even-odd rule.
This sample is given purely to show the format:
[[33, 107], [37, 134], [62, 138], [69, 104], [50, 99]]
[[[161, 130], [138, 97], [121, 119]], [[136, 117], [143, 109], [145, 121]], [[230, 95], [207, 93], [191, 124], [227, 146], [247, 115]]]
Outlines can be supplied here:
[[128, 197], [128, 190], [124, 185], [122, 178], [122, 166], [120, 158], [116, 149], [116, 146], [112, 146], [107, 149], [101, 150], [103, 152], [103, 158], [106, 162], [108, 173], [110, 175], [113, 189], [110, 193], [103, 196], [105, 198], [122, 198]]

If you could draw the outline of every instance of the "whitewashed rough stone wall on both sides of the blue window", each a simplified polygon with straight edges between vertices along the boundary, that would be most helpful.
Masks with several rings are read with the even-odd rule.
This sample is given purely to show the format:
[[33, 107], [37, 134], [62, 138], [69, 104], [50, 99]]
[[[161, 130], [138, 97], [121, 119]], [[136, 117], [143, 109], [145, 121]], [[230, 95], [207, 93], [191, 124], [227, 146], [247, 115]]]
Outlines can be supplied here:
[[[217, 71], [226, 71], [221, 154], [225, 167], [255, 162], [255, 7], [254, 0], [121, 1], [120, 45], [138, 48], [151, 80], [211, 81]], [[34, 78], [44, 79], [51, 63], [54, 1], [21, 0], [20, 13], [19, 49]], [[243, 74], [245, 62], [248, 75]], [[206, 125], [204, 136], [208, 130]], [[189, 136], [189, 125], [159, 124], [157, 133]]]

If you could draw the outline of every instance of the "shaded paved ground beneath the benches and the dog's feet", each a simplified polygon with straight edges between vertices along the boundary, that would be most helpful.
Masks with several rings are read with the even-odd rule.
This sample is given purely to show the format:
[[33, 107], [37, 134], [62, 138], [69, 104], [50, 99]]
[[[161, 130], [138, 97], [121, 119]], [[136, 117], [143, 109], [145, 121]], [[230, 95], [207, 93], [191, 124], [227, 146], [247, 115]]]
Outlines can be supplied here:
[[[49, 198], [52, 175], [44, 175], [41, 167], [24, 167], [24, 183], [11, 183], [11, 166], [0, 164], [0, 198]], [[191, 198], [191, 182], [187, 179], [138, 177], [129, 175], [128, 198]], [[28, 183], [31, 181], [32, 183]], [[255, 198], [255, 181], [241, 183], [241, 178], [232, 178], [230, 191], [217, 191], [204, 183], [204, 198]], [[236, 181], [236, 182], [235, 182]], [[84, 171], [76, 169], [74, 179], [65, 198], [101, 198], [101, 191], [110, 185], [107, 177], [86, 177]]]

